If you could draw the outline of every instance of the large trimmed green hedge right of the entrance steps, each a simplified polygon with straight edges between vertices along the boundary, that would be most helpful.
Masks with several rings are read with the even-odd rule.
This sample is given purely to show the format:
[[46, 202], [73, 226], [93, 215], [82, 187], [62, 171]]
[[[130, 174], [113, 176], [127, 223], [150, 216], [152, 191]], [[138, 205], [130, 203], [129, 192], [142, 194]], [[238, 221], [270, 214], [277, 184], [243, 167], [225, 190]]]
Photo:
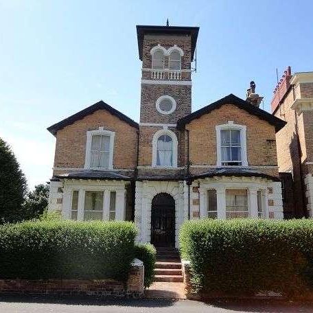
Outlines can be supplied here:
[[297, 296], [313, 286], [313, 220], [201, 220], [183, 224], [181, 254], [194, 292]]

